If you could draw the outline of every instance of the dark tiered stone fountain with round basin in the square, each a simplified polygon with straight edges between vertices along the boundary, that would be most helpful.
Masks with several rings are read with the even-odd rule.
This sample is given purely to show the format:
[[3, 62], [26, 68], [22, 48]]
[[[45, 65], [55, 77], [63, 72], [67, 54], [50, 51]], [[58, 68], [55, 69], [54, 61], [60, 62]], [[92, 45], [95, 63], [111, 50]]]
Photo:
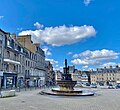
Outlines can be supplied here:
[[77, 81], [72, 81], [71, 74], [68, 72], [67, 59], [65, 59], [64, 74], [62, 79], [57, 81], [59, 87], [52, 88], [51, 90], [43, 90], [40, 94], [57, 95], [57, 96], [92, 96], [94, 93], [91, 91], [74, 88]]

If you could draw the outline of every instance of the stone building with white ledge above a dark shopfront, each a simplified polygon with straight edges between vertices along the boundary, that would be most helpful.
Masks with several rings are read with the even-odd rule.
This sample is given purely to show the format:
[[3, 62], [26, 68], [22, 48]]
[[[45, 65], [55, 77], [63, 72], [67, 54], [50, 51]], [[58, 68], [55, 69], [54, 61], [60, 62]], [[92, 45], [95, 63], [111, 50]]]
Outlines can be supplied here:
[[1, 86], [3, 88], [16, 87], [17, 75], [19, 73], [19, 51], [14, 39], [15, 35], [6, 33], [3, 49], [3, 76]]

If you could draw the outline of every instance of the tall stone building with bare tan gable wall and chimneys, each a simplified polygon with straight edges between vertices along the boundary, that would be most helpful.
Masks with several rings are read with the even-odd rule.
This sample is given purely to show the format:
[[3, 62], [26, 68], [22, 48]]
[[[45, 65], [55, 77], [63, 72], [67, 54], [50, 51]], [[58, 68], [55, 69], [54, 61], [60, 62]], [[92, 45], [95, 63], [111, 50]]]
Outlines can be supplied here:
[[[33, 43], [31, 35], [18, 36], [17, 41], [28, 50], [26, 56], [25, 79], [29, 79], [36, 86], [45, 85], [45, 54], [39, 43]], [[29, 81], [28, 80], [28, 81]]]

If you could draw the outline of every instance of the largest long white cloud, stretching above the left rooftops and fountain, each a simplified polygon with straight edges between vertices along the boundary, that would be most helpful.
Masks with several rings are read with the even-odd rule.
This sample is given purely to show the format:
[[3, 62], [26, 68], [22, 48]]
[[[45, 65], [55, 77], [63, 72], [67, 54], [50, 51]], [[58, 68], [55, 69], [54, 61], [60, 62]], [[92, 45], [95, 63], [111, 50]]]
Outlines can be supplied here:
[[33, 42], [45, 42], [52, 46], [62, 46], [80, 42], [96, 35], [93, 26], [56, 26], [44, 30], [26, 30], [19, 35], [32, 35]]

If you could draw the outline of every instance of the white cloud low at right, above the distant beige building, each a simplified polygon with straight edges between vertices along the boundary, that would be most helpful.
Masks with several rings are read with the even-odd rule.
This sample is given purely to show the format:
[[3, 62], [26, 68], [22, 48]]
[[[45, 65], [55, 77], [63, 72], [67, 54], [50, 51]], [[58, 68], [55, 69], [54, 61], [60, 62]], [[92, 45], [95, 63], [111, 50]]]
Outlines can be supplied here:
[[103, 61], [110, 61], [118, 58], [119, 53], [113, 50], [87, 50], [80, 54], [73, 55], [71, 63], [75, 65], [101, 65]]

